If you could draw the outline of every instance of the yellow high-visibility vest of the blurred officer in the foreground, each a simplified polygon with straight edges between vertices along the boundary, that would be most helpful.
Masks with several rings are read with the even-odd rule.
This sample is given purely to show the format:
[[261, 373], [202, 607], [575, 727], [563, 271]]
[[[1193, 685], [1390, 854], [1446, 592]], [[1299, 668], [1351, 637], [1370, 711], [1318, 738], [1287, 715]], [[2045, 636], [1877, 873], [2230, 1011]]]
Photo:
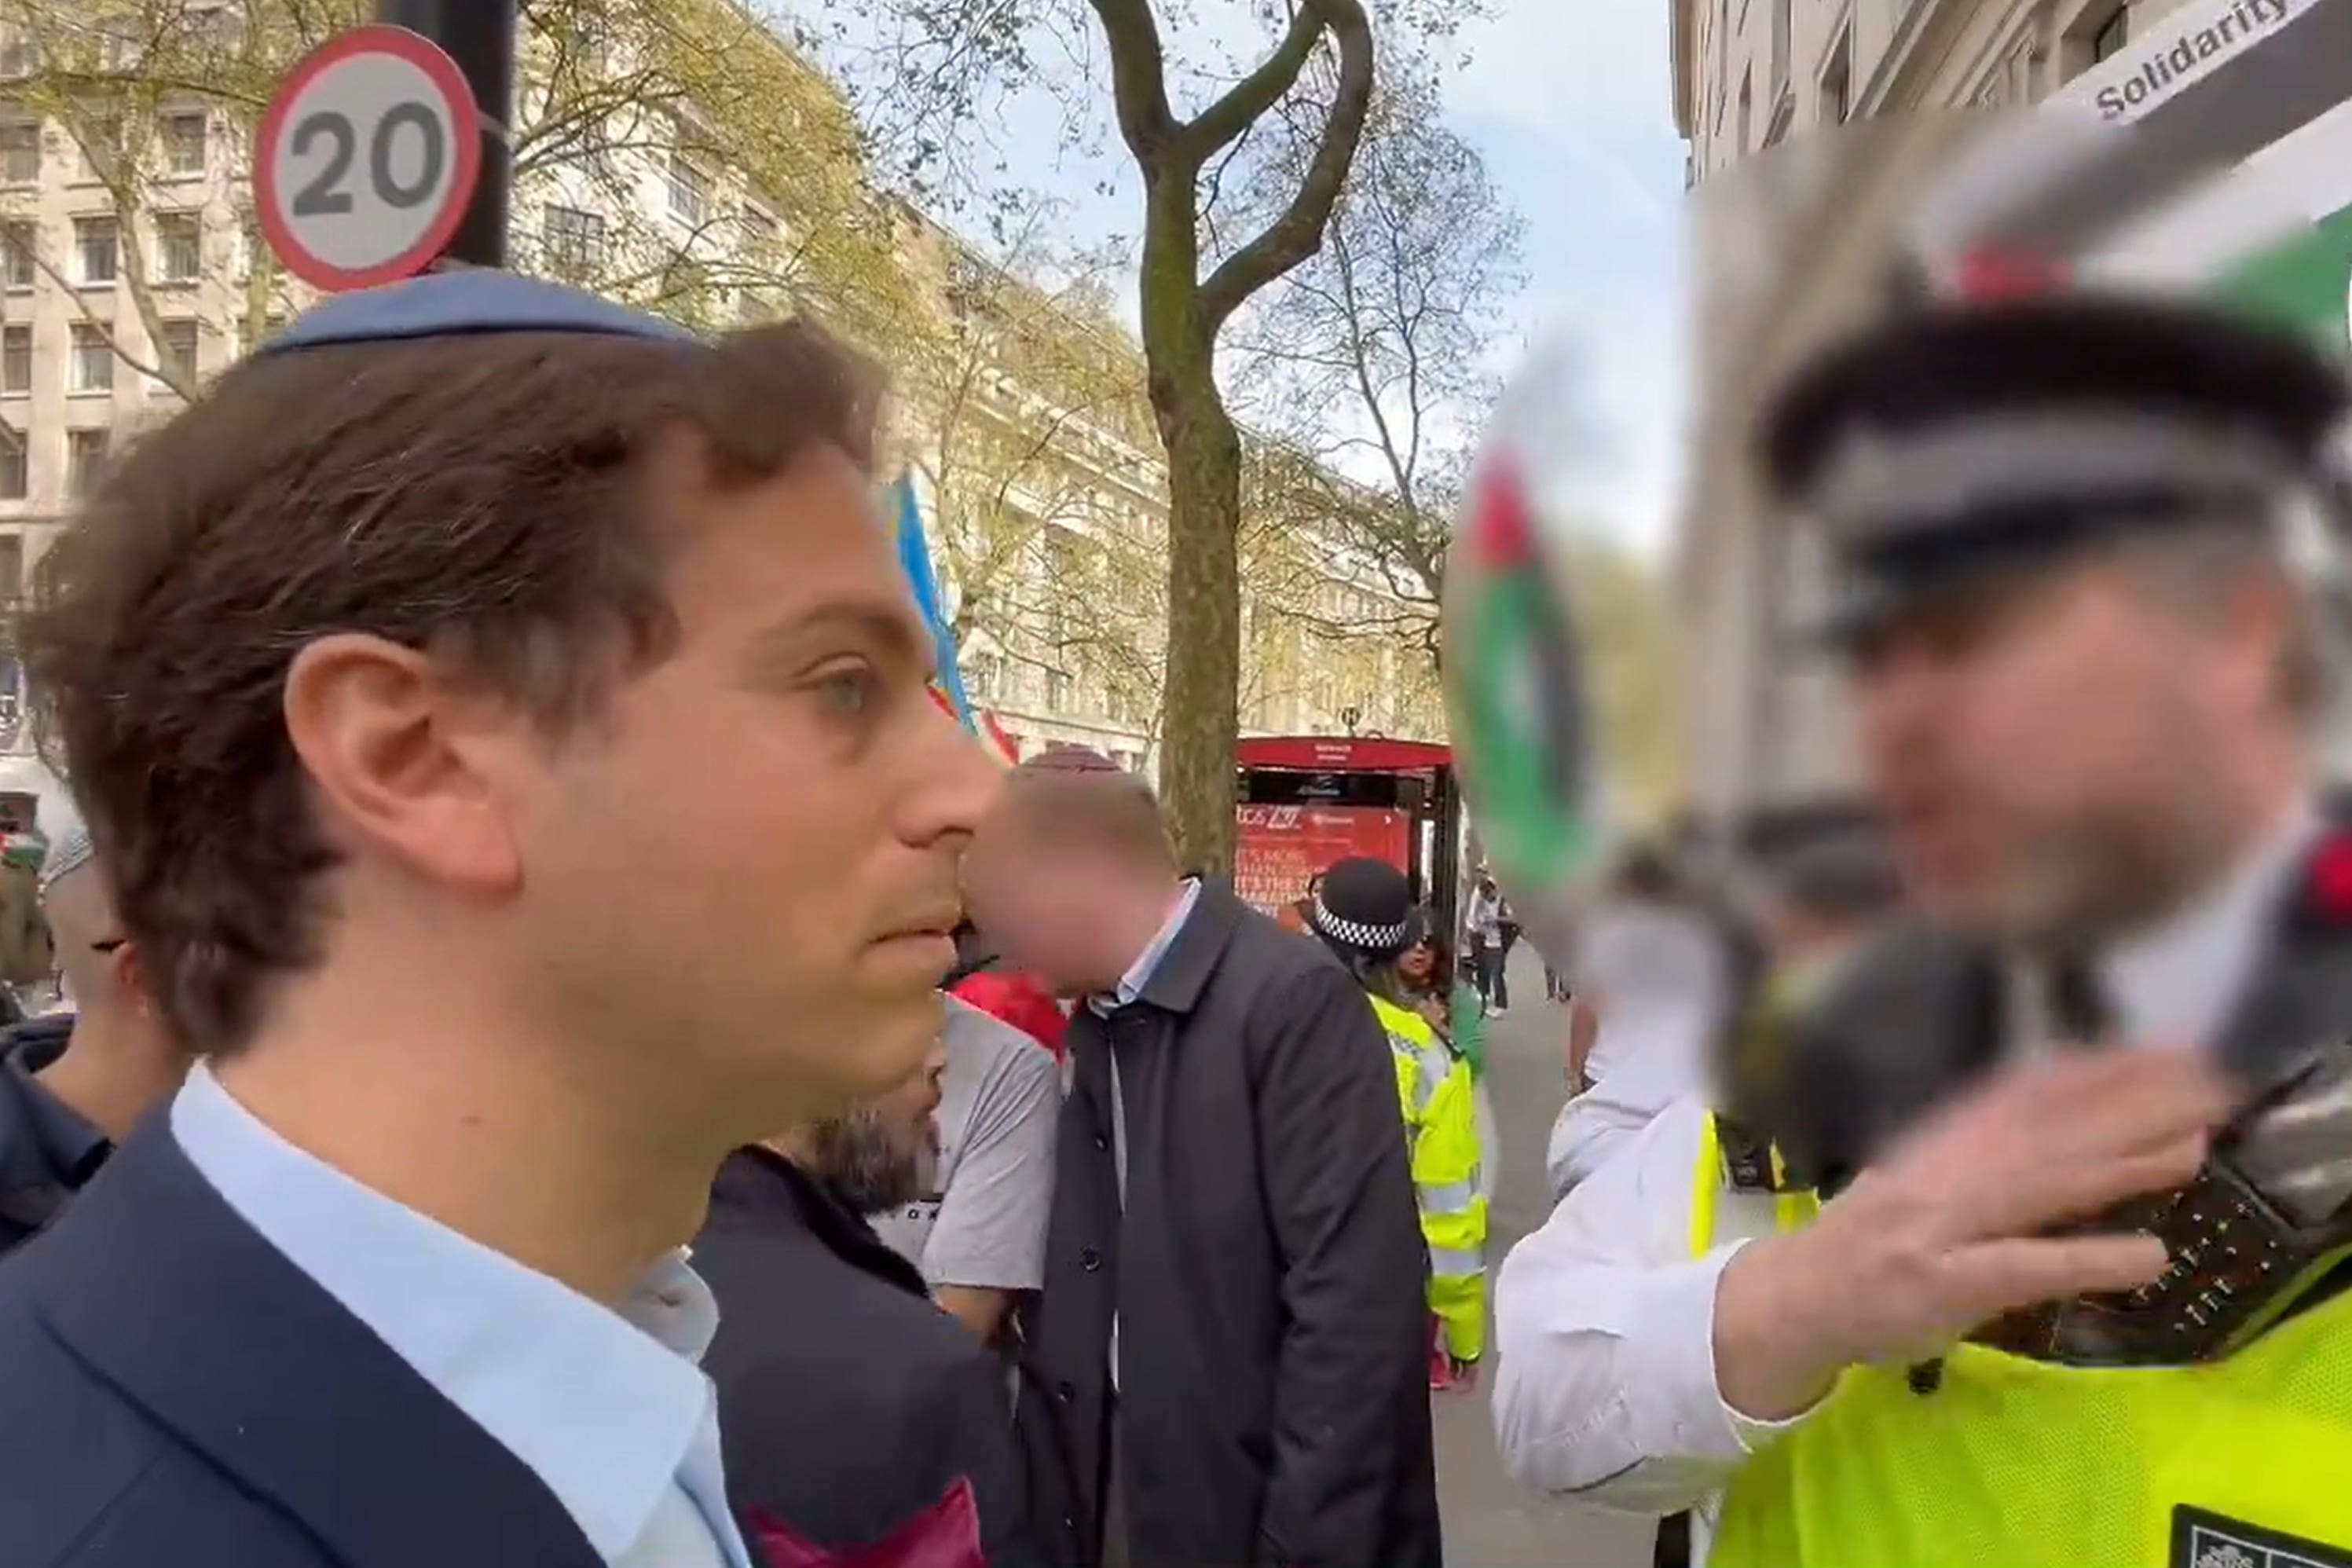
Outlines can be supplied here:
[[[1698, 1166], [1698, 1251], [1726, 1178]], [[1776, 1225], [1811, 1218], [1776, 1199]], [[1929, 1394], [1849, 1368], [1733, 1476], [1708, 1568], [2352, 1563], [2352, 1295], [2225, 1361], [2065, 1368], [1957, 1345]]]

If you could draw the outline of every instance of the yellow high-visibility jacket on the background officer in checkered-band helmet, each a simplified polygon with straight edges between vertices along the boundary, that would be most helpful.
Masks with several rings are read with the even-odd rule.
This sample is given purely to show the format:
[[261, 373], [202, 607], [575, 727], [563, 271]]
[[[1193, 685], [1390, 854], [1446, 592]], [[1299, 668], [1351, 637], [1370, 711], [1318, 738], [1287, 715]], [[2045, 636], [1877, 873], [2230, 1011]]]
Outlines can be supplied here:
[[1477, 1361], [1486, 1349], [1486, 1199], [1470, 1063], [1446, 1051], [1428, 1018], [1385, 997], [1374, 997], [1371, 1011], [1397, 1063], [1404, 1147], [1430, 1246], [1430, 1312], [1444, 1328], [1446, 1354]]

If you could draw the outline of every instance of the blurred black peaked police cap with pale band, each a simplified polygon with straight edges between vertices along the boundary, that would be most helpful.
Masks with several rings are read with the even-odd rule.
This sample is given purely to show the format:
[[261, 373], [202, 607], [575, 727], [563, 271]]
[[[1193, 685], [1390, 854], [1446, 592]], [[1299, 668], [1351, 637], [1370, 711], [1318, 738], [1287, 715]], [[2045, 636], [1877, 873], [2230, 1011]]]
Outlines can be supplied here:
[[2286, 331], [2051, 292], [1938, 301], [1832, 346], [1769, 400], [1757, 447], [1771, 498], [1823, 529], [1825, 630], [1851, 639], [2129, 534], [2338, 534], [2347, 409], [2343, 367]]

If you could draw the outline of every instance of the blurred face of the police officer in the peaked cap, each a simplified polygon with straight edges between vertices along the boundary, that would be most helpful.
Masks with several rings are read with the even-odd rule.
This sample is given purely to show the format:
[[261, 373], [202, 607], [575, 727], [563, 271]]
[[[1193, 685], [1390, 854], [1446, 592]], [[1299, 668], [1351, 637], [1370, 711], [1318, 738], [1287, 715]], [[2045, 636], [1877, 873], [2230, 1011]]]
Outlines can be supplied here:
[[1907, 884], [2018, 940], [2161, 912], [2232, 832], [2230, 752], [2249, 703], [2270, 701], [2274, 649], [2114, 562], [1905, 616], [1858, 651], [1856, 698]]

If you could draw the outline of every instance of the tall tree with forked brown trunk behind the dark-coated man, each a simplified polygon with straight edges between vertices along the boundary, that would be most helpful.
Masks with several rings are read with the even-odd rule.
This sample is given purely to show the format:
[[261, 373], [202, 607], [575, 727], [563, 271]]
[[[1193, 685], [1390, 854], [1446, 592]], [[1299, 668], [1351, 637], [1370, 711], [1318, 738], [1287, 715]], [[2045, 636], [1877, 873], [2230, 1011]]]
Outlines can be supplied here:
[[[1451, 28], [1479, 7], [1435, 0], [1268, 0], [1265, 52], [1183, 113], [1176, 87], [1202, 73], [1167, 35], [1195, 12], [1171, 0], [920, 0], [901, 5], [894, 87], [922, 160], [969, 120], [981, 85], [1030, 63], [1040, 35], [1101, 47], [1112, 125], [1143, 176], [1138, 303], [1148, 395], [1169, 470], [1167, 731], [1160, 780], [1178, 851], [1209, 870], [1232, 863], [1232, 745], [1242, 654], [1242, 430], [1218, 386], [1232, 317], [1324, 242], [1364, 132], [1374, 33]], [[1091, 26], [1087, 26], [1091, 24]], [[948, 106], [941, 110], [941, 106]], [[924, 113], [929, 110], [929, 113]], [[1277, 115], [1312, 125], [1296, 179], [1263, 221], [1216, 216], [1223, 181], [1263, 165], [1240, 158]]]

